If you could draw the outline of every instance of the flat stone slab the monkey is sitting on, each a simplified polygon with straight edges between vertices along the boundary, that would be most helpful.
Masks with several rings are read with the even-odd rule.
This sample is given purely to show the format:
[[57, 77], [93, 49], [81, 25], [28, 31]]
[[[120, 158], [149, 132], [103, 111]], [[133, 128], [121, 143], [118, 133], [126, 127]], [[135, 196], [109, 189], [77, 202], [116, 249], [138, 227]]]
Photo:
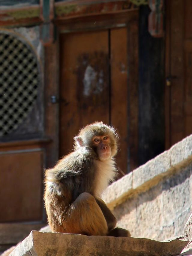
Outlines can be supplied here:
[[186, 241], [158, 242], [144, 238], [84, 236], [32, 231], [10, 254], [22, 255], [124, 255], [170, 256], [181, 253]]

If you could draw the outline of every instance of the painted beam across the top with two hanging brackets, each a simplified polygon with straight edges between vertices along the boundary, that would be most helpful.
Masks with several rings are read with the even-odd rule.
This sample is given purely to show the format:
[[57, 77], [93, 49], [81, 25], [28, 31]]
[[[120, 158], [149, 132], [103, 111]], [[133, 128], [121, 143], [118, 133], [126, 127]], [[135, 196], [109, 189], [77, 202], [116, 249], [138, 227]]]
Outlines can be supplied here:
[[[34, 0], [35, 1], [35, 0]], [[148, 5], [152, 12], [149, 15], [149, 33], [154, 37], [162, 37], [163, 0], [54, 0], [35, 1], [35, 4], [11, 4], [2, 6], [0, 3], [0, 26], [41, 25], [44, 44], [54, 40], [52, 21], [69, 20], [76, 17], [94, 16], [99, 14], [117, 14], [136, 10], [139, 5]], [[7, 2], [6, 2], [7, 3]]]

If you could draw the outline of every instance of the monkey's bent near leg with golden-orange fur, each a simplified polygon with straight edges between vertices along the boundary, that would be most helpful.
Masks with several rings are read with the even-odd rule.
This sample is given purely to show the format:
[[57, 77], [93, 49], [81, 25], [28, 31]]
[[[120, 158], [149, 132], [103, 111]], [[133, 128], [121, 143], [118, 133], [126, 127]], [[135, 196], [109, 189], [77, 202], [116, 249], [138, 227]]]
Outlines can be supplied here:
[[107, 222], [95, 197], [86, 192], [71, 204], [64, 218], [64, 233], [105, 236], [108, 232]]

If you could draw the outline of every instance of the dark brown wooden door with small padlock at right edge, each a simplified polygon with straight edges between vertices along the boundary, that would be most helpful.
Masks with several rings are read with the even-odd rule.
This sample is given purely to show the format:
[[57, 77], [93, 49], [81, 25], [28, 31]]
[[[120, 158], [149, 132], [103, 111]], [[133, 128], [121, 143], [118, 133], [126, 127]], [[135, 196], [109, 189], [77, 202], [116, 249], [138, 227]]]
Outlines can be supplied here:
[[166, 148], [192, 133], [192, 5], [167, 1]]

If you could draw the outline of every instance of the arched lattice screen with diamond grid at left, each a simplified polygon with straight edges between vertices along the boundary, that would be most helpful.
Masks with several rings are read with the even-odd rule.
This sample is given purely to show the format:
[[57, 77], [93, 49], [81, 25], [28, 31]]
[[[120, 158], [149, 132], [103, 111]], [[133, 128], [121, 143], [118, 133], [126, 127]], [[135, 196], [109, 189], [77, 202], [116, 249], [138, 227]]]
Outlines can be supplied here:
[[27, 117], [38, 84], [38, 62], [32, 48], [0, 32], [0, 136], [16, 130]]

